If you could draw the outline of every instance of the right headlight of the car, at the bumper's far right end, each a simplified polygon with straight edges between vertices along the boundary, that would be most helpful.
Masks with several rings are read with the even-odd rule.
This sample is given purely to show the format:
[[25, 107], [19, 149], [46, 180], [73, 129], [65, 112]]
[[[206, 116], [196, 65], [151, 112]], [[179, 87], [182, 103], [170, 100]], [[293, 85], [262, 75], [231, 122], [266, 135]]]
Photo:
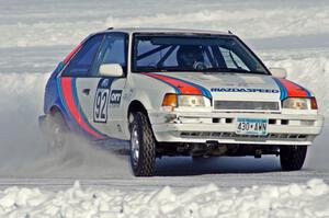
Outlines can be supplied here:
[[315, 97], [288, 97], [282, 102], [283, 108], [292, 110], [317, 110], [317, 102]]

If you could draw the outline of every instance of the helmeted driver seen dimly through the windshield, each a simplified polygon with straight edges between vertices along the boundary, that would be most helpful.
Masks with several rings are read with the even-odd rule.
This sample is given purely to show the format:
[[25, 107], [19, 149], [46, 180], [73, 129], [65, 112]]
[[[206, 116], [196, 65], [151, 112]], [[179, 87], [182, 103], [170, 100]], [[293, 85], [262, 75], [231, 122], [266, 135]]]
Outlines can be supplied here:
[[182, 45], [177, 51], [177, 62], [180, 68], [202, 70], [205, 68], [203, 51], [200, 46]]

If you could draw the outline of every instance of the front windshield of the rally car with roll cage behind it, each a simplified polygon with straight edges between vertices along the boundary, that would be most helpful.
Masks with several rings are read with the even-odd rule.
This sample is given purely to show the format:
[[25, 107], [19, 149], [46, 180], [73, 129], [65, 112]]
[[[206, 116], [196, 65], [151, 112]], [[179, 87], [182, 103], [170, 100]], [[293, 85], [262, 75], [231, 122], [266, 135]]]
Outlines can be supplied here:
[[135, 34], [133, 71], [202, 71], [268, 74], [263, 64], [229, 35]]

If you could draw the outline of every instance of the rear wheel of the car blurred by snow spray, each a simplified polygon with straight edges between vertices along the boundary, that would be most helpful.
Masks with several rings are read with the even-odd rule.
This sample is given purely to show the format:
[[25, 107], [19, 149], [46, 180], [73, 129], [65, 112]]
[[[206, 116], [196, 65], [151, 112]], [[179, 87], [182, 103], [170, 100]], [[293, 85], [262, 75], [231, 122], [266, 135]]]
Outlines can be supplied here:
[[68, 127], [59, 112], [48, 114], [47, 122], [47, 152], [54, 153], [63, 150], [68, 141]]

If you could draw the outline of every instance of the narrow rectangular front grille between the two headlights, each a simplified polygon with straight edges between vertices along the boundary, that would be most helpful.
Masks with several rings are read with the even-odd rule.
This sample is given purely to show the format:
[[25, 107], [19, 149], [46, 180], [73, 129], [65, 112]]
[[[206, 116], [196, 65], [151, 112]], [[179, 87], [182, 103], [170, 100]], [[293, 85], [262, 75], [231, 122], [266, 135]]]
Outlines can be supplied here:
[[214, 110], [273, 112], [280, 111], [280, 103], [260, 101], [214, 101]]

